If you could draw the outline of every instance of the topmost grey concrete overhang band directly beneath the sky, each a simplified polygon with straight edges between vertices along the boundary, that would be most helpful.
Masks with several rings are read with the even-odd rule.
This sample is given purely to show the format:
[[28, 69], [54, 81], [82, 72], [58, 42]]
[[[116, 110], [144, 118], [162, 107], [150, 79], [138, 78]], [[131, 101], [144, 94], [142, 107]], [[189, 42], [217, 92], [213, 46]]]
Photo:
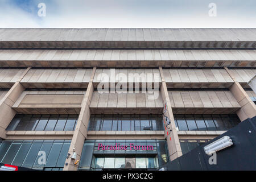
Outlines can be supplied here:
[[255, 48], [255, 28], [2, 28], [0, 48]]

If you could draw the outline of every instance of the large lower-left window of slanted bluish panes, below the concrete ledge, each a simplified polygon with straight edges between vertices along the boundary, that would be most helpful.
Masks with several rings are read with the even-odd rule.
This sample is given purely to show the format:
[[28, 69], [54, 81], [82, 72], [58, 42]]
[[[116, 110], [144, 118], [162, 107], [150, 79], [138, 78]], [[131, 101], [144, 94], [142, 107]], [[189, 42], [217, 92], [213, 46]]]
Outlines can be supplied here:
[[[0, 163], [43, 170], [63, 168], [71, 140], [4, 140], [0, 144]], [[46, 165], [40, 164], [39, 151], [46, 152]]]

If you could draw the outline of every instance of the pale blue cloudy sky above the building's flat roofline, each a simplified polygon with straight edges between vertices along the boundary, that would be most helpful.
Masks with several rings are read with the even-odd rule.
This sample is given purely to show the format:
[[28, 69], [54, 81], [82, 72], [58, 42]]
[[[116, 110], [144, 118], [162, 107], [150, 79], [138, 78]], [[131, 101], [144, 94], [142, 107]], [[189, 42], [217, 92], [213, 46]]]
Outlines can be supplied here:
[[256, 28], [256, 1], [0, 0], [0, 28]]

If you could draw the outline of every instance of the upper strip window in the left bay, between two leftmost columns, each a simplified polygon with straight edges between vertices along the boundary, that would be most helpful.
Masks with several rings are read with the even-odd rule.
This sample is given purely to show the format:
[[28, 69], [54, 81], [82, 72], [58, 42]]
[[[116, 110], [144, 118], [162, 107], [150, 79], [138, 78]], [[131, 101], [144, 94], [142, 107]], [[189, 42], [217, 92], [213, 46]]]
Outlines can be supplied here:
[[73, 131], [78, 115], [15, 115], [9, 131]]

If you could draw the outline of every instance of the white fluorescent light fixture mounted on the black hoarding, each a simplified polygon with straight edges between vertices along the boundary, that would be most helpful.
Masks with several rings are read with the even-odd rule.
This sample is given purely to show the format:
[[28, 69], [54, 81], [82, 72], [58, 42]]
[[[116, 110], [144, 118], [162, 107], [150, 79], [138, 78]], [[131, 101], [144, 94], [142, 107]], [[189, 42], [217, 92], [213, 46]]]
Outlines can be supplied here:
[[226, 147], [232, 146], [232, 139], [228, 136], [224, 136], [204, 147], [205, 154], [212, 155], [214, 152], [222, 150]]

